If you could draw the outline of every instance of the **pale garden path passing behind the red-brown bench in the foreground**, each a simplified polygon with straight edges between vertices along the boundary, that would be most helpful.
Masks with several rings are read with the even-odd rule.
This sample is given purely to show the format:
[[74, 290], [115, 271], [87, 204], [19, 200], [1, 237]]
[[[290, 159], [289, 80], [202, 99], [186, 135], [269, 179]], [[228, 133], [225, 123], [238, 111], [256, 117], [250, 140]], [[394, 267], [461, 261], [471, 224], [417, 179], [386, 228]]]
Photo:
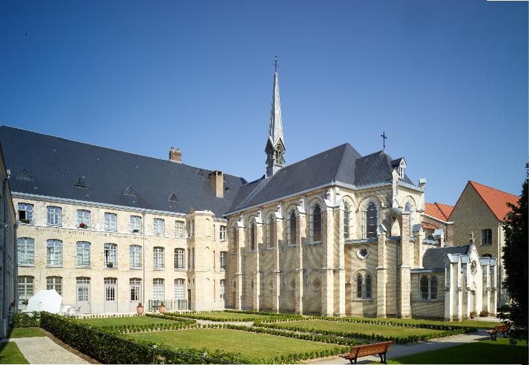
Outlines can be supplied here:
[[[484, 329], [480, 329], [475, 333], [467, 335], [457, 335], [452, 337], [438, 338], [436, 340], [412, 342], [410, 344], [394, 344], [388, 352], [388, 359], [396, 359], [397, 357], [413, 355], [415, 353], [424, 353], [426, 351], [439, 350], [439, 348], [447, 348], [461, 344], [468, 344], [473, 341], [487, 340], [489, 335], [484, 333]], [[443, 363], [443, 359], [436, 359], [439, 364]], [[380, 362], [380, 357], [366, 356], [358, 359], [358, 364], [369, 364], [371, 362]], [[342, 357], [326, 357], [325, 359], [315, 359], [308, 361], [307, 364], [349, 364], [349, 360], [342, 359]]]

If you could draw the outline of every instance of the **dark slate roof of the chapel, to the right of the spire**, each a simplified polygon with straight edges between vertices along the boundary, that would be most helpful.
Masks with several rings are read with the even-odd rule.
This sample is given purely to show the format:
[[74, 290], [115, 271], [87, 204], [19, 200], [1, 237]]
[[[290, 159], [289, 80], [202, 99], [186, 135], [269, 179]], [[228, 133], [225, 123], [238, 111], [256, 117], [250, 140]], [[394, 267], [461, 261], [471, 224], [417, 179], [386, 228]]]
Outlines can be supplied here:
[[[264, 176], [241, 187], [230, 211], [260, 205], [339, 181], [361, 186], [391, 181], [391, 161], [384, 150], [361, 156], [349, 143], [293, 163], [269, 178]], [[402, 181], [412, 184], [408, 176]]]

